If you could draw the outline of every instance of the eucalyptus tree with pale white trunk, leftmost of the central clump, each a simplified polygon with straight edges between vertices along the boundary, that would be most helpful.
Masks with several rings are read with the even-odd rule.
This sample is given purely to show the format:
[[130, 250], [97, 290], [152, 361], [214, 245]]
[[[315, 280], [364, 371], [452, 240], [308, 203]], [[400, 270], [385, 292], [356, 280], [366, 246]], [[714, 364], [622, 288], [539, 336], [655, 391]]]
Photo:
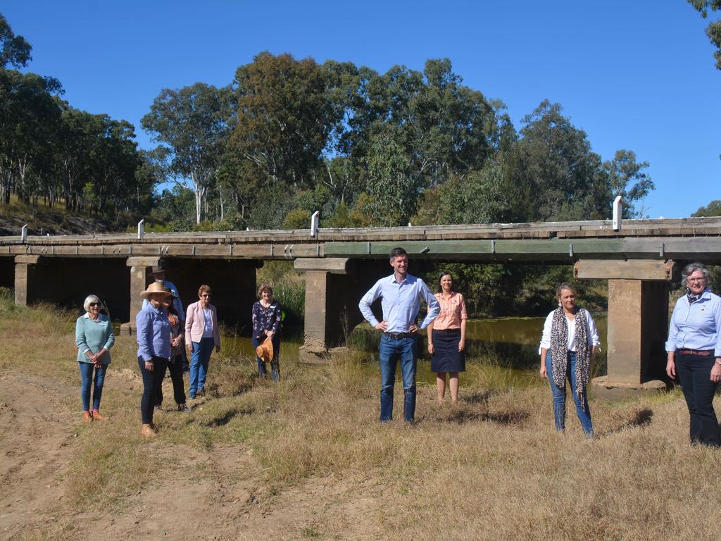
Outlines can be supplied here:
[[141, 125], [160, 143], [167, 175], [190, 180], [195, 194], [195, 221], [200, 223], [208, 188], [216, 179], [230, 116], [224, 92], [205, 83], [163, 89]]

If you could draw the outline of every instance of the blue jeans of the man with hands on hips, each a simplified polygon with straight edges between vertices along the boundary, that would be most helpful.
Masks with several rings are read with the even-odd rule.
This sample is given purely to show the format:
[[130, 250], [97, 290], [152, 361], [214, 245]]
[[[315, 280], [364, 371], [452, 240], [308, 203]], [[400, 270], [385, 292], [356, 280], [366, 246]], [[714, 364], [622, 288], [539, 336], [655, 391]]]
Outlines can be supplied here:
[[394, 339], [381, 335], [379, 358], [381, 361], [381, 421], [393, 418], [393, 387], [396, 366], [401, 361], [403, 377], [403, 415], [406, 421], [415, 417], [415, 369], [418, 345], [415, 337]]

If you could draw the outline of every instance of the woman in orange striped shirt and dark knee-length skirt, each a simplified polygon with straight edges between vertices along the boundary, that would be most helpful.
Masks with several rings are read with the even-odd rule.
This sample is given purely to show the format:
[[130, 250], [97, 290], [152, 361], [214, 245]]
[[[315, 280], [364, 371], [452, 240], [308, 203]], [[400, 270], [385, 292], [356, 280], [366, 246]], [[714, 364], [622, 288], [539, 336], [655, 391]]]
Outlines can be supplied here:
[[451, 273], [443, 272], [438, 278], [435, 298], [441, 304], [441, 313], [428, 325], [428, 353], [430, 369], [435, 372], [438, 404], [446, 396], [446, 373], [451, 389], [451, 403], [458, 403], [458, 374], [466, 369], [466, 302], [456, 293]]

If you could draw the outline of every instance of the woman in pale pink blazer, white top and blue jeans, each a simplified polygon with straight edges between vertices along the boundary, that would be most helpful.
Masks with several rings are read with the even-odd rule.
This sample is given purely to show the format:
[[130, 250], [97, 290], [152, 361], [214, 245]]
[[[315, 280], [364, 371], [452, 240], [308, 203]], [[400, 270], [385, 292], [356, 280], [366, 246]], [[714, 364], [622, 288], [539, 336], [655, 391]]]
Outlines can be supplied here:
[[190, 357], [190, 399], [205, 395], [205, 376], [213, 346], [221, 351], [221, 335], [218, 331], [216, 307], [211, 304], [210, 286], [200, 286], [198, 302], [187, 307], [185, 315], [185, 343], [191, 351]]

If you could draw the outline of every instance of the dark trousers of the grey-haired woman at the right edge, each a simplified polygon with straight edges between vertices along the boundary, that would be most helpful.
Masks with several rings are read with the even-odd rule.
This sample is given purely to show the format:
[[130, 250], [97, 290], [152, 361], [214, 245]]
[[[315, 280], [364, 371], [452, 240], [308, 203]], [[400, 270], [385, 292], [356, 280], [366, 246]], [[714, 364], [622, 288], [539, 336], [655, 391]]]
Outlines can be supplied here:
[[714, 411], [714, 394], [718, 384], [711, 381], [713, 351], [707, 357], [681, 355], [676, 352], [676, 375], [684, 391], [691, 416], [691, 443], [721, 446], [719, 423]]

